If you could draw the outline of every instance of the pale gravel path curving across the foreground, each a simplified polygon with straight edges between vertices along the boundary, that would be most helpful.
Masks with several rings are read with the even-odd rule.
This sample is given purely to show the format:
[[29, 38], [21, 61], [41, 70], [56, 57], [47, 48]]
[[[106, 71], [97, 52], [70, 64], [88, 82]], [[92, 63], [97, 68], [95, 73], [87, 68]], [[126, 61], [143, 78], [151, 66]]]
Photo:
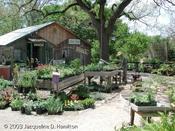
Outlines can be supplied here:
[[103, 104], [97, 103], [96, 109], [64, 112], [60, 116], [28, 116], [8, 108], [0, 110], [0, 131], [114, 131], [123, 122], [129, 122], [127, 108], [119, 93]]

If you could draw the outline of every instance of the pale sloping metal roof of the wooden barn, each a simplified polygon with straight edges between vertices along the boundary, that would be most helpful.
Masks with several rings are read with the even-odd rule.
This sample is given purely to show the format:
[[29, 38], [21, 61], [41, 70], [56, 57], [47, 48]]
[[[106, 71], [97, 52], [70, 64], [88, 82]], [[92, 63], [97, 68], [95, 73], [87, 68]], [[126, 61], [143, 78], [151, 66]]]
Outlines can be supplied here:
[[26, 36], [26, 35], [28, 35], [28, 34], [31, 34], [39, 29], [42, 29], [43, 27], [46, 27], [52, 23], [54, 23], [54, 22], [22, 28], [22, 29], [18, 29], [18, 30], [12, 31], [10, 33], [7, 33], [5, 35], [2, 35], [2, 36], [0, 36], [0, 46], [1, 45], [2, 46], [8, 45], [8, 44]]

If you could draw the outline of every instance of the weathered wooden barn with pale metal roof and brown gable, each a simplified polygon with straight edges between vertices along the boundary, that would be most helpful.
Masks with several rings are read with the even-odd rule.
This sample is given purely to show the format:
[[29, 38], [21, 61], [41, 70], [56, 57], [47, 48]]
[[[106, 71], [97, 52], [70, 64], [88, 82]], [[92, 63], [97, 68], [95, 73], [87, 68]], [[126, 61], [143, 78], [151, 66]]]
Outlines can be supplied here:
[[50, 22], [0, 36], [0, 64], [10, 59], [25, 62], [27, 58], [37, 58], [43, 64], [79, 58], [82, 64], [88, 64], [90, 48], [70, 30]]

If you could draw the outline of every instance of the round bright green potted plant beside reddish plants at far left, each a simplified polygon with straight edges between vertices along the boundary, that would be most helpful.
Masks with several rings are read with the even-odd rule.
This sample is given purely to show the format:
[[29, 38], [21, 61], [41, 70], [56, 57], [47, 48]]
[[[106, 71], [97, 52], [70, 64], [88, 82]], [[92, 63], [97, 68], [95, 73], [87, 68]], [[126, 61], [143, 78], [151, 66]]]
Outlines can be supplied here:
[[15, 98], [10, 103], [12, 111], [19, 111], [21, 107], [23, 106], [23, 100], [20, 98]]

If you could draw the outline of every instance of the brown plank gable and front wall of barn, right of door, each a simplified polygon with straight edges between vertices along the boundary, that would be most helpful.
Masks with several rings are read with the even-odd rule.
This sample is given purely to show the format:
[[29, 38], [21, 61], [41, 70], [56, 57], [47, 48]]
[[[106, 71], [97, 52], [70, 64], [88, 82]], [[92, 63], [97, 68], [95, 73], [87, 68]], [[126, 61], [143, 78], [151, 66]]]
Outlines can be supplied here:
[[[68, 39], [78, 39], [73, 33], [57, 23], [53, 23], [37, 32], [37, 35], [55, 45], [54, 58], [63, 59], [63, 51], [67, 50], [66, 59], [72, 60], [80, 58], [81, 63], [90, 63], [90, 46], [81, 40], [80, 45], [68, 44]], [[82, 52], [86, 51], [87, 54], [83, 55]], [[84, 59], [84, 60], [83, 60]]]

